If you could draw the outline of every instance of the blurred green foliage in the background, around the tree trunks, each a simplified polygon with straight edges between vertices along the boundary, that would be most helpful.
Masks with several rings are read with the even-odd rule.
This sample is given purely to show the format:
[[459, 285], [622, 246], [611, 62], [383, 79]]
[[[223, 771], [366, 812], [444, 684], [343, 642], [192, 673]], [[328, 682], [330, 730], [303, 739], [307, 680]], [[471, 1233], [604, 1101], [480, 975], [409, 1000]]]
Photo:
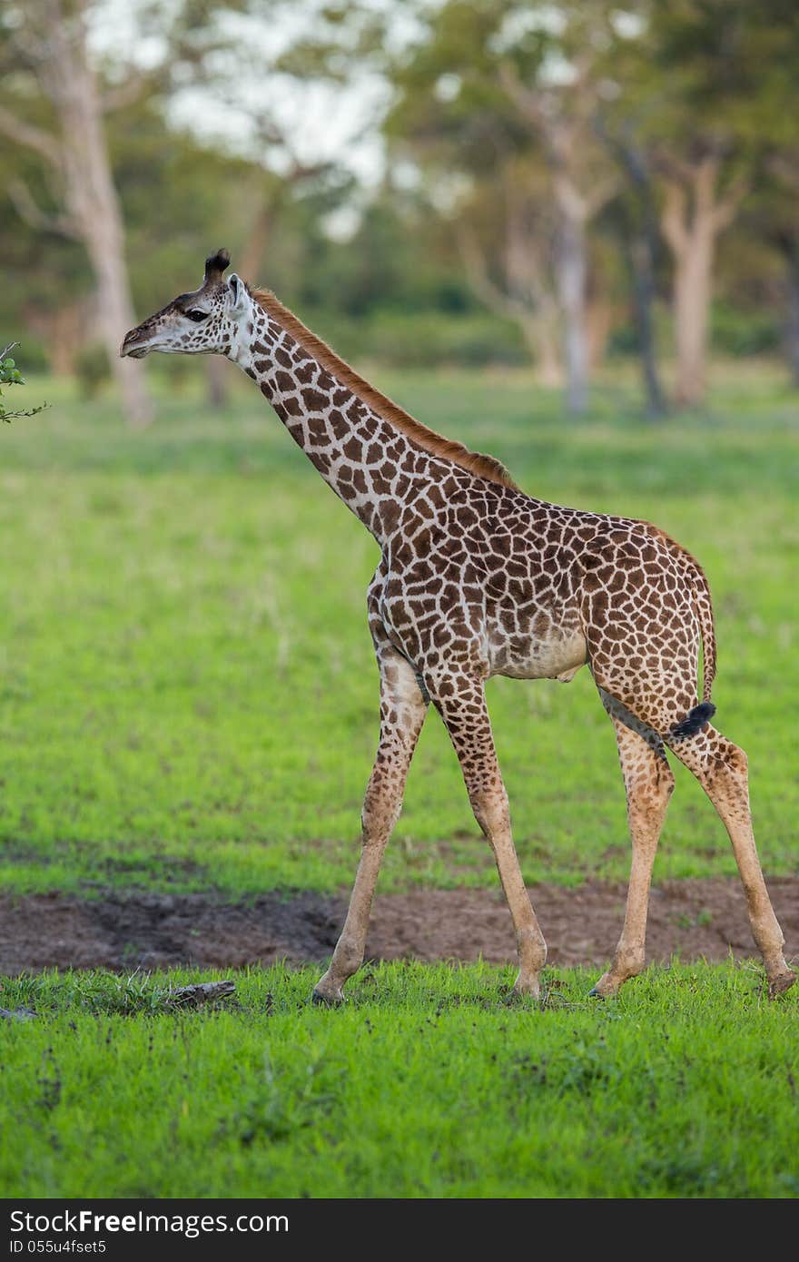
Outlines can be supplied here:
[[[213, 116], [217, 101], [247, 98], [247, 88], [264, 77], [259, 40], [249, 52], [241, 32], [256, 32], [259, 21], [274, 20], [283, 6], [275, 10], [260, 0], [240, 0], [235, 8], [249, 14], [247, 25], [218, 23], [218, 8], [179, 3], [167, 13], [163, 5], [138, 6], [134, 20], [140, 38], [162, 48], [163, 63], [138, 97], [130, 93], [126, 103], [105, 115], [139, 313], [158, 308], [199, 279], [207, 250], [221, 244], [221, 226], [237, 265], [266, 207], [269, 232], [255, 269], [259, 274], [247, 279], [268, 284], [305, 312], [319, 312], [322, 321], [338, 321], [347, 329], [357, 326], [351, 345], [362, 346], [364, 353], [401, 366], [425, 366], [434, 355], [438, 362], [518, 362], [519, 334], [505, 317], [485, 310], [475, 299], [453, 227], [473, 230], [496, 281], [509, 252], [506, 221], [515, 213], [509, 192], [519, 193], [529, 182], [531, 218], [525, 232], [544, 262], [552, 262], [557, 222], [547, 209], [548, 197], [542, 196], [549, 188], [552, 154], [511, 103], [502, 71], [512, 67], [523, 83], [533, 85], [579, 53], [588, 56], [600, 76], [601, 109], [612, 124], [610, 130], [656, 151], [655, 186], [660, 159], [679, 164], [708, 146], [723, 156], [722, 189], [737, 174], [747, 174], [743, 215], [721, 260], [721, 290], [726, 307], [735, 308], [741, 321], [751, 314], [752, 328], [757, 324], [756, 347], [771, 345], [766, 326], [776, 328], [783, 319], [786, 257], [796, 250], [795, 6], [781, 0], [759, 5], [634, 0], [620, 9], [612, 0], [564, 0], [555, 8], [531, 10], [516, 0], [447, 0], [411, 6], [414, 21], [404, 27], [404, 34], [413, 29], [415, 38], [406, 43], [404, 35], [381, 38], [380, 23], [391, 25], [394, 19], [384, 19], [374, 6], [364, 9], [353, 0], [319, 13], [309, 43], [289, 50], [283, 69], [290, 68], [313, 87], [321, 77], [347, 80], [357, 58], [390, 80], [393, 105], [382, 127], [389, 174], [385, 186], [369, 197], [353, 187], [351, 174], [324, 164], [317, 178], [299, 182], [266, 170], [261, 159], [273, 162], [280, 150], [273, 143], [266, 107], [255, 119], [264, 138], [263, 148], [252, 150], [255, 159], [208, 140], [207, 131], [198, 139], [167, 125], [189, 83], [206, 93], [207, 112]], [[91, 6], [91, 15], [102, 10], [104, 4]], [[636, 16], [641, 19], [637, 25]], [[626, 34], [621, 34], [625, 20]], [[8, 73], [0, 103], [53, 131], [52, 106], [35, 90], [30, 68], [13, 58], [9, 39], [19, 27], [19, 14], [3, 23], [0, 18], [0, 54], [6, 57], [1, 64]], [[231, 39], [232, 58], [222, 56]], [[97, 66], [101, 88], [125, 82], [126, 53], [117, 49], [115, 56], [116, 61], [104, 58]], [[565, 110], [564, 119], [567, 81], [568, 76], [562, 78], [560, 91], [558, 76], [552, 77], [549, 101], [555, 114]], [[255, 97], [247, 100], [246, 112], [255, 111]], [[591, 153], [582, 155], [581, 169], [587, 170], [589, 160], [592, 169], [595, 162], [601, 165], [597, 179], [587, 180], [591, 189], [605, 183], [612, 164], [593, 130], [588, 131], [592, 139], [583, 136], [581, 144]], [[0, 134], [0, 160], [6, 175], [0, 188], [0, 251], [15, 261], [4, 278], [6, 336], [29, 324], [30, 336], [48, 348], [50, 365], [81, 372], [81, 355], [71, 346], [68, 353], [59, 353], [63, 328], [57, 317], [72, 310], [81, 337], [91, 343], [93, 280], [85, 249], [58, 226], [59, 183], [35, 148]], [[280, 169], [287, 170], [285, 163]], [[327, 217], [346, 204], [364, 212], [360, 227], [350, 240], [333, 241]], [[635, 341], [625, 331], [629, 281], [616, 250], [597, 222], [589, 232], [589, 289], [616, 313], [620, 336], [615, 346], [632, 351]], [[661, 297], [670, 281], [664, 254]], [[424, 337], [420, 313], [428, 321]], [[480, 318], [481, 328], [454, 321], [442, 328], [451, 316]], [[733, 332], [728, 322], [722, 323], [717, 345], [749, 353], [746, 331]], [[90, 385], [95, 384], [92, 376]]]

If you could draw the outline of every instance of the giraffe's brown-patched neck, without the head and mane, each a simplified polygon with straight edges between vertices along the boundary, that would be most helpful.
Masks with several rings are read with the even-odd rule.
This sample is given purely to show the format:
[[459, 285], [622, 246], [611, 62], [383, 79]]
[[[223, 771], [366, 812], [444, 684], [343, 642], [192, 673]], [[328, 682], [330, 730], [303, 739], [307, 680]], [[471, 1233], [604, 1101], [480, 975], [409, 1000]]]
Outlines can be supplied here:
[[382, 545], [405, 505], [447, 475], [470, 475], [420, 451], [257, 304], [228, 357], [269, 400], [327, 485]]

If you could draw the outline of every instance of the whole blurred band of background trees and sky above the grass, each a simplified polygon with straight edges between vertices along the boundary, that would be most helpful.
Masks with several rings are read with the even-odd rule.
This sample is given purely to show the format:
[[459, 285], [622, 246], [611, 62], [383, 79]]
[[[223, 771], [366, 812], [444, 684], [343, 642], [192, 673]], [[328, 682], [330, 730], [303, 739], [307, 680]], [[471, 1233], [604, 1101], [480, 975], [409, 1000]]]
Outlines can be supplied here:
[[[573, 410], [608, 355], [651, 414], [661, 361], [695, 403], [712, 348], [783, 351], [799, 385], [789, 0], [11, 0], [0, 68], [0, 342], [32, 367], [107, 371], [125, 312], [223, 244], [361, 360], [533, 361]], [[318, 93], [375, 83], [327, 144]]]

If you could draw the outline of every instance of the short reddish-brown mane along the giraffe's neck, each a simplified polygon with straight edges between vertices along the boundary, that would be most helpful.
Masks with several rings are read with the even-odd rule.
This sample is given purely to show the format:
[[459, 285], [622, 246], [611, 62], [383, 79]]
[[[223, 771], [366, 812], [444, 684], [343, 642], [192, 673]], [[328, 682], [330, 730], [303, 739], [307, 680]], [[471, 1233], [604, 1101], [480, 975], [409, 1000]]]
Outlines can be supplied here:
[[417, 447], [422, 447], [432, 456], [442, 456], [452, 461], [475, 477], [486, 478], [487, 482], [499, 482], [514, 491], [519, 487], [511, 478], [501, 461], [494, 456], [483, 456], [481, 452], [471, 452], [463, 443], [444, 438], [434, 429], [428, 429], [420, 420], [406, 413], [399, 404], [395, 404], [388, 395], [384, 395], [375, 386], [370, 385], [358, 372], [355, 371], [341, 356], [312, 333], [309, 328], [293, 312], [284, 307], [269, 289], [250, 289], [250, 295], [269, 316], [289, 333], [294, 341], [299, 342], [305, 351], [314, 356], [322, 367], [334, 376], [343, 386], [352, 390], [369, 408], [377, 413], [384, 420], [401, 430]]

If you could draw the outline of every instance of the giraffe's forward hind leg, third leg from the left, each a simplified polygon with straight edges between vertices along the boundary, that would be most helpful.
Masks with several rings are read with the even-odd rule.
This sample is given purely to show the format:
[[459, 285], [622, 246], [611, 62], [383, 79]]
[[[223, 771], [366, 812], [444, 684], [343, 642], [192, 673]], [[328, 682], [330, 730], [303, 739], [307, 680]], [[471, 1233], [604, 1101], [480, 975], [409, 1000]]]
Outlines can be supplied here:
[[627, 978], [636, 977], [644, 968], [651, 872], [666, 808], [674, 790], [674, 775], [658, 733], [639, 724], [631, 714], [622, 718], [622, 711], [613, 698], [603, 692], [600, 694], [616, 731], [632, 842], [624, 929], [611, 967], [591, 991], [591, 994], [600, 998], [610, 998], [618, 992]]

